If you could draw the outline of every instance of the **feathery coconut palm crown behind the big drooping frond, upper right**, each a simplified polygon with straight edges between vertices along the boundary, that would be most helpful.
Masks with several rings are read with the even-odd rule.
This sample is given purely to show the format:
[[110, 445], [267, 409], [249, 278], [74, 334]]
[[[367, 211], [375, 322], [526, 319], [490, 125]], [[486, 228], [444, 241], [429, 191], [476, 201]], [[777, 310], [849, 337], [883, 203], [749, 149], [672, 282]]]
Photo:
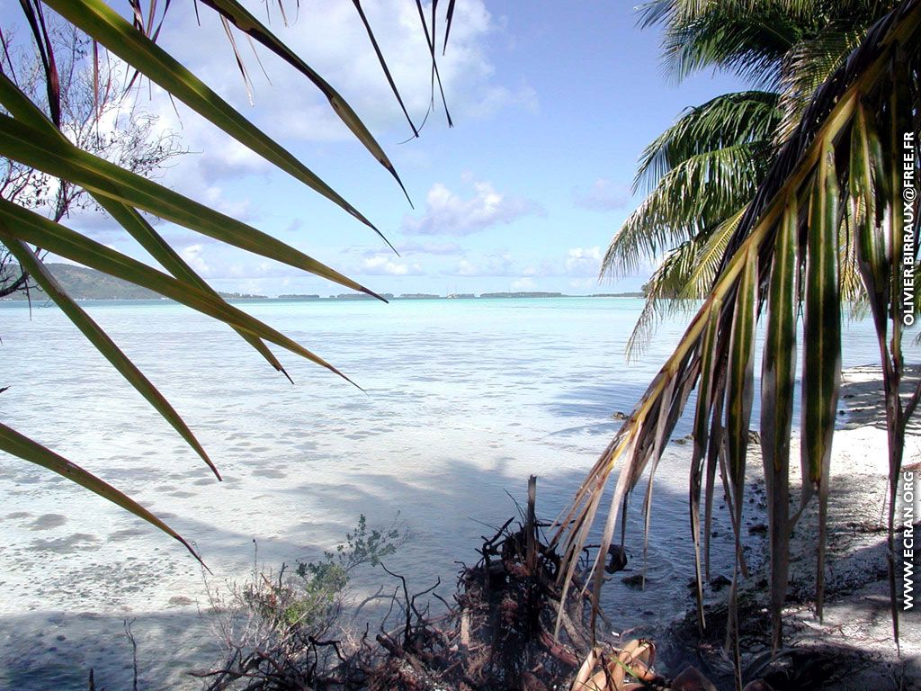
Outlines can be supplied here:
[[[655, 269], [627, 351], [648, 342], [659, 319], [687, 313], [713, 284], [729, 236], [810, 97], [894, 2], [691, 2], [639, 8], [643, 28], [663, 32], [663, 67], [675, 81], [714, 70], [745, 90], [686, 109], [640, 157], [634, 192], [646, 199], [614, 234], [601, 275]], [[860, 297], [856, 264], [845, 295]]]

